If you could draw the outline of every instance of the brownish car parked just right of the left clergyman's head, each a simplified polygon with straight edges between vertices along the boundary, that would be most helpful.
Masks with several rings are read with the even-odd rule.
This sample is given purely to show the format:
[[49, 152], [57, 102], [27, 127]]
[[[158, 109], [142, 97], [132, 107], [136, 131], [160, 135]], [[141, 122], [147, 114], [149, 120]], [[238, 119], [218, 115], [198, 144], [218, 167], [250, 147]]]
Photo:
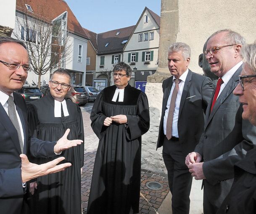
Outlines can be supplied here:
[[70, 99], [81, 106], [87, 104], [89, 100], [87, 92], [82, 86], [72, 86], [68, 94], [66, 94], [66, 99]]

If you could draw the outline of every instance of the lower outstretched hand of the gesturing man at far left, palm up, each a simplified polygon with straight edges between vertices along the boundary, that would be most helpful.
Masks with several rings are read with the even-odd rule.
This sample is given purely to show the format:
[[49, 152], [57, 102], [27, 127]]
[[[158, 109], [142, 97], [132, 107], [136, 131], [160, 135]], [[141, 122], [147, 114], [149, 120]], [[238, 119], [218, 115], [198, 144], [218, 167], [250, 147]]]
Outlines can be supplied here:
[[25, 154], [20, 154], [21, 157], [21, 179], [22, 183], [28, 182], [29, 180], [48, 175], [50, 173], [63, 171], [65, 168], [70, 167], [71, 163], [64, 163], [57, 165], [63, 161], [64, 157], [59, 157], [45, 164], [33, 164], [29, 162], [28, 157]]

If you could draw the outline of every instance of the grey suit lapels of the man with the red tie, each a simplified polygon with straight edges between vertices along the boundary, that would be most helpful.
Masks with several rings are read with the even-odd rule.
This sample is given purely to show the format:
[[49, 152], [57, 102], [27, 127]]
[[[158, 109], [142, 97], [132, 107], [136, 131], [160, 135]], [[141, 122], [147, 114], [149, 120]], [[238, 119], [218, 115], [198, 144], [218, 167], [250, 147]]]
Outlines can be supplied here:
[[[233, 76], [230, 78], [230, 80], [227, 82], [227, 85], [224, 87], [224, 89], [222, 90], [222, 92], [219, 94], [219, 97], [217, 98], [214, 107], [211, 111], [211, 106], [210, 104], [208, 105], [207, 108], [207, 112], [209, 114], [207, 123], [206, 123], [206, 127], [207, 125], [210, 123], [211, 119], [213, 118], [213, 116], [215, 115], [216, 111], [219, 109], [220, 105], [225, 101], [225, 99], [227, 99], [227, 97], [233, 92], [233, 90], [235, 89], [235, 87], [238, 85], [238, 81], [239, 78], [238, 76], [240, 75], [241, 71], [242, 71], [243, 65], [241, 65], [238, 70], [233, 74]], [[216, 89], [215, 89], [216, 90]], [[214, 93], [215, 93], [214, 90]], [[212, 99], [214, 97], [214, 93], [213, 96], [211, 98], [211, 103], [212, 103]], [[235, 95], [234, 95], [235, 96]]]

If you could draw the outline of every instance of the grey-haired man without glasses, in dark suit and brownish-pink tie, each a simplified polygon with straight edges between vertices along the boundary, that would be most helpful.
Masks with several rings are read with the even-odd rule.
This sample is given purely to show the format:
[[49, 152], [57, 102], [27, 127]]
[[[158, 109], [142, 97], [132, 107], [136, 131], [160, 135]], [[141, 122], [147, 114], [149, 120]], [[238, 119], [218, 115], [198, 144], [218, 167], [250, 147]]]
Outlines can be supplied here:
[[172, 213], [189, 214], [192, 176], [185, 165], [185, 157], [201, 137], [203, 114], [214, 87], [210, 78], [188, 69], [190, 47], [187, 44], [174, 43], [168, 52], [168, 67], [173, 76], [162, 85], [164, 97], [157, 148], [163, 146]]

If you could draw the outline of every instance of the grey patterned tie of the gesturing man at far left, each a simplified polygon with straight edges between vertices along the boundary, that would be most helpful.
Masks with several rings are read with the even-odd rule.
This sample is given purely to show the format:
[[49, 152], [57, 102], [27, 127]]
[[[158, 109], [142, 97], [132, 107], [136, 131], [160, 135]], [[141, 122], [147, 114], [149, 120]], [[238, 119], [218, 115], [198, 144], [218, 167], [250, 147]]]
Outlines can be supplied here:
[[20, 125], [18, 124], [18, 117], [16, 114], [16, 110], [15, 110], [15, 104], [13, 102], [13, 97], [9, 96], [8, 99], [8, 116], [10, 117], [11, 122], [13, 123], [14, 127], [17, 130], [18, 133], [18, 141], [21, 147], [21, 153], [23, 153], [23, 141], [22, 141], [22, 137], [21, 137], [21, 128]]

